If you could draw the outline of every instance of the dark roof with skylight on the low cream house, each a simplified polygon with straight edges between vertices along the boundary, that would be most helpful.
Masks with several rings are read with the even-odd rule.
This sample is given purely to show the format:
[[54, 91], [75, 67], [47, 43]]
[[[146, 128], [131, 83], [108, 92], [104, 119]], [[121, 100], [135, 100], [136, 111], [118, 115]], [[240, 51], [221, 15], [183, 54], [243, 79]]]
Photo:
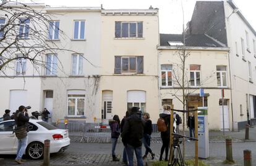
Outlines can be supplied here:
[[[169, 42], [183, 42], [183, 34], [160, 34], [160, 46], [170, 46]], [[186, 46], [225, 47], [206, 34], [185, 34]]]

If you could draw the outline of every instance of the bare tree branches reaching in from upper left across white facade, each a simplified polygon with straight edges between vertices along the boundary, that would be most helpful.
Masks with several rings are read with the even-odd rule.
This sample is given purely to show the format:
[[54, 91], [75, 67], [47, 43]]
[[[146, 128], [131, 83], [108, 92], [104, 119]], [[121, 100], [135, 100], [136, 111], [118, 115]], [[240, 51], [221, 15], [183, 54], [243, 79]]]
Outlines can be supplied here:
[[[64, 51], [77, 53], [75, 50], [65, 49], [60, 43], [56, 44], [52, 40], [53, 33], [49, 33], [50, 29], [57, 32], [54, 35], [58, 35], [58, 39], [68, 38], [63, 31], [59, 30], [59, 27], [53, 24], [53, 17], [54, 14], [48, 14], [44, 6], [34, 2], [29, 5], [2, 1], [0, 4], [0, 75], [7, 76], [7, 70], [14, 68], [15, 61], [19, 61], [20, 68], [23, 68], [22, 60], [30, 61], [34, 70], [40, 74], [40, 69], [46, 68], [46, 53]], [[64, 71], [61, 63], [59, 64], [58, 68]], [[20, 70], [23, 71], [23, 69]], [[22, 75], [23, 72], [17, 74]]]

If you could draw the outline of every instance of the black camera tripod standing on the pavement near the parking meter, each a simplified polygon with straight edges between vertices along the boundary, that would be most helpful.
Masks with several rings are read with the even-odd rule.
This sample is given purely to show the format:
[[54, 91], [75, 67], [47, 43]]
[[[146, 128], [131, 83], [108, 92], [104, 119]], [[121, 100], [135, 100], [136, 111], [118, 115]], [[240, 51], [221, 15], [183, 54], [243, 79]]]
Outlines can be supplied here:
[[[170, 162], [170, 159], [172, 159], [171, 162]], [[171, 146], [171, 154], [170, 154], [168, 166], [184, 166], [184, 162], [181, 154], [181, 148], [179, 146], [179, 140], [175, 141]]]

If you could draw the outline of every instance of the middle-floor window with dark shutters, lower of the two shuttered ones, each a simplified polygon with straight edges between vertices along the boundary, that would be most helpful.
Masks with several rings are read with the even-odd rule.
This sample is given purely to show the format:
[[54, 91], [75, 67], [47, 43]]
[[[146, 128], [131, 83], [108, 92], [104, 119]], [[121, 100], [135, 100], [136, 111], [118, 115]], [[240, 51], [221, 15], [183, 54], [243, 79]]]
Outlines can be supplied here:
[[114, 73], [137, 73], [143, 74], [143, 57], [120, 57], [114, 60]]

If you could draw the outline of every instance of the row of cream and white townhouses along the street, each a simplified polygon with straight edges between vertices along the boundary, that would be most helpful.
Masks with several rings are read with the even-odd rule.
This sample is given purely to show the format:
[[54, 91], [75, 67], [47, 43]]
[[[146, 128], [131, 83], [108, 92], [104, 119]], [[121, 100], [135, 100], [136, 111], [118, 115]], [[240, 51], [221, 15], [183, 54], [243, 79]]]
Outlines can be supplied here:
[[[95, 122], [114, 114], [122, 118], [138, 106], [155, 124], [162, 105], [182, 109], [179, 55], [184, 52], [187, 109], [208, 106], [212, 130], [223, 130], [223, 116], [225, 130], [239, 130], [248, 120], [255, 124], [256, 32], [233, 1], [198, 1], [185, 34], [160, 34], [158, 9], [152, 7], [28, 5], [51, 15], [51, 43], [77, 53], [46, 52], [40, 72], [26, 59], [12, 63], [0, 74], [1, 114], [30, 105], [33, 111], [47, 108], [52, 122]], [[6, 19], [0, 14], [2, 25]], [[31, 24], [25, 23], [25, 28]]]

